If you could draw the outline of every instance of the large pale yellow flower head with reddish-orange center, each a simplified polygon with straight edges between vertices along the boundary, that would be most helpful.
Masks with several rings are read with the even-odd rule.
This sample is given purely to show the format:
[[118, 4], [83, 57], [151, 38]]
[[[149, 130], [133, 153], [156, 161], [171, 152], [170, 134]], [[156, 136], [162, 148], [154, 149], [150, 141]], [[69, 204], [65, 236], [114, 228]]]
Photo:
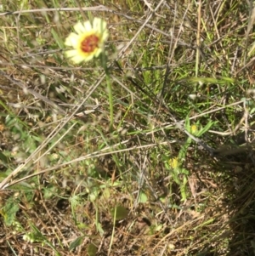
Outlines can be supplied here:
[[65, 56], [77, 64], [98, 57], [109, 36], [105, 20], [94, 18], [92, 24], [89, 20], [79, 21], [74, 30], [76, 33], [71, 32], [65, 39], [65, 45], [73, 48], [66, 50]]

